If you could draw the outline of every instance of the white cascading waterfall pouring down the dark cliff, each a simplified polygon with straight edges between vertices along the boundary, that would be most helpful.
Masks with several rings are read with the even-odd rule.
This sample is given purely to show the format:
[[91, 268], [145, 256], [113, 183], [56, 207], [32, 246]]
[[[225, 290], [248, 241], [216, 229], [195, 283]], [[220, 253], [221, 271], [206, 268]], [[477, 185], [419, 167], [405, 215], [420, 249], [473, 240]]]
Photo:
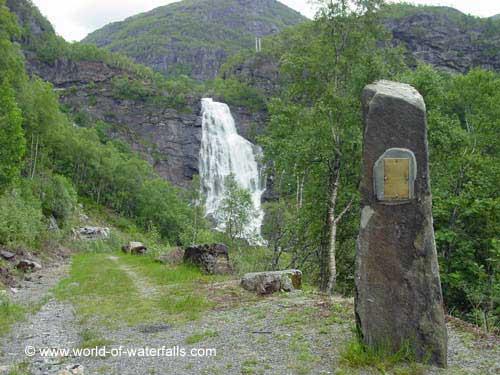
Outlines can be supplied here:
[[233, 174], [241, 188], [252, 196], [255, 215], [247, 226], [244, 237], [262, 242], [260, 230], [264, 213], [261, 197], [265, 188], [261, 181], [256, 156], [259, 147], [238, 135], [231, 110], [224, 103], [202, 99], [203, 134], [200, 149], [200, 180], [206, 195], [206, 215], [211, 216], [217, 229], [224, 230], [225, 223], [220, 206], [225, 197], [224, 180]]

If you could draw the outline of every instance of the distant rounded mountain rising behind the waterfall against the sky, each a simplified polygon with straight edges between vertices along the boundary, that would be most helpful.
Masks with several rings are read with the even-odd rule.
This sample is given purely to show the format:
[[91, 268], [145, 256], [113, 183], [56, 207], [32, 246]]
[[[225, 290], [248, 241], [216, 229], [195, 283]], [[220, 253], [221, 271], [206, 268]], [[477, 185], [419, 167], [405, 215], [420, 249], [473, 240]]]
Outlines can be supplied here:
[[105, 26], [85, 40], [167, 76], [217, 76], [226, 59], [305, 17], [276, 0], [183, 0]]

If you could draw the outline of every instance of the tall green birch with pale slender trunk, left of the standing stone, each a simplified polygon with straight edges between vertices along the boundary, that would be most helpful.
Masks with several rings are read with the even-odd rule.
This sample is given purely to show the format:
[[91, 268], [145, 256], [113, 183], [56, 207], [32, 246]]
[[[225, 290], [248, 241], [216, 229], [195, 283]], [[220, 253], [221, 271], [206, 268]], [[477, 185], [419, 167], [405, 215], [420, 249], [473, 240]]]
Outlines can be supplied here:
[[337, 243], [355, 235], [346, 219], [357, 199], [361, 91], [402, 67], [377, 17], [382, 5], [324, 1], [314, 23], [285, 33], [284, 90], [271, 102], [261, 139], [271, 173], [282, 180], [279, 193], [309, 222], [307, 238], [296, 245], [306, 254], [297, 259], [317, 260], [319, 283], [329, 293], [337, 283]]

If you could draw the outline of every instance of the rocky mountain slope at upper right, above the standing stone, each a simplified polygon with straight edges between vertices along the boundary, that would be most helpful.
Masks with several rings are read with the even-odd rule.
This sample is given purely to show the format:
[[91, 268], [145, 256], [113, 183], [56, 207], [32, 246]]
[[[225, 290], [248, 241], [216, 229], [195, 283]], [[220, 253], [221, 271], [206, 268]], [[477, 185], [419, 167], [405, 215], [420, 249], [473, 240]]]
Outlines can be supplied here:
[[397, 4], [384, 23], [395, 44], [416, 61], [465, 73], [473, 67], [500, 70], [500, 20], [478, 18], [449, 7]]

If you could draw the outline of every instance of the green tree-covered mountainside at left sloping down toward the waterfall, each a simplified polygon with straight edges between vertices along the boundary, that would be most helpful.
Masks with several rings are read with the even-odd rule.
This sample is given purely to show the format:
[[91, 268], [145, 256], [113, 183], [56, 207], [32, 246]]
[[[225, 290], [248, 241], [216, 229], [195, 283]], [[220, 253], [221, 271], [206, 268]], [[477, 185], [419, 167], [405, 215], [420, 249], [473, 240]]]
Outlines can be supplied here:
[[[81, 201], [180, 241], [181, 232], [175, 228], [184, 227], [193, 212], [184, 193], [161, 178], [126, 142], [110, 138], [107, 124], [79, 120], [64, 100], [61, 105], [60, 89], [54, 90], [45, 77], [28, 74], [26, 67], [33, 73], [34, 63], [41, 61], [38, 53], [50, 50], [55, 58], [46, 64], [58, 70], [55, 76], [71, 72], [64, 76], [69, 82], [92, 85], [113, 75], [125, 80], [141, 77], [144, 87], [159, 91], [153, 73], [96, 49], [66, 45], [51, 28], [40, 27], [38, 21], [43, 19], [30, 2], [8, 5], [12, 4], [20, 17], [0, 1], [0, 246], [42, 254], [56, 251], [53, 247], [78, 222]], [[18, 25], [18, 18], [26, 23]], [[26, 58], [16, 41], [23, 43]], [[63, 62], [69, 71], [62, 68]], [[179, 90], [175, 92], [183, 98]], [[175, 98], [163, 96], [165, 101]], [[175, 103], [167, 106], [175, 108]], [[168, 209], [155, 212], [159, 204]], [[55, 228], [52, 232], [47, 230], [49, 223]], [[2, 279], [9, 275], [4, 266]]]

